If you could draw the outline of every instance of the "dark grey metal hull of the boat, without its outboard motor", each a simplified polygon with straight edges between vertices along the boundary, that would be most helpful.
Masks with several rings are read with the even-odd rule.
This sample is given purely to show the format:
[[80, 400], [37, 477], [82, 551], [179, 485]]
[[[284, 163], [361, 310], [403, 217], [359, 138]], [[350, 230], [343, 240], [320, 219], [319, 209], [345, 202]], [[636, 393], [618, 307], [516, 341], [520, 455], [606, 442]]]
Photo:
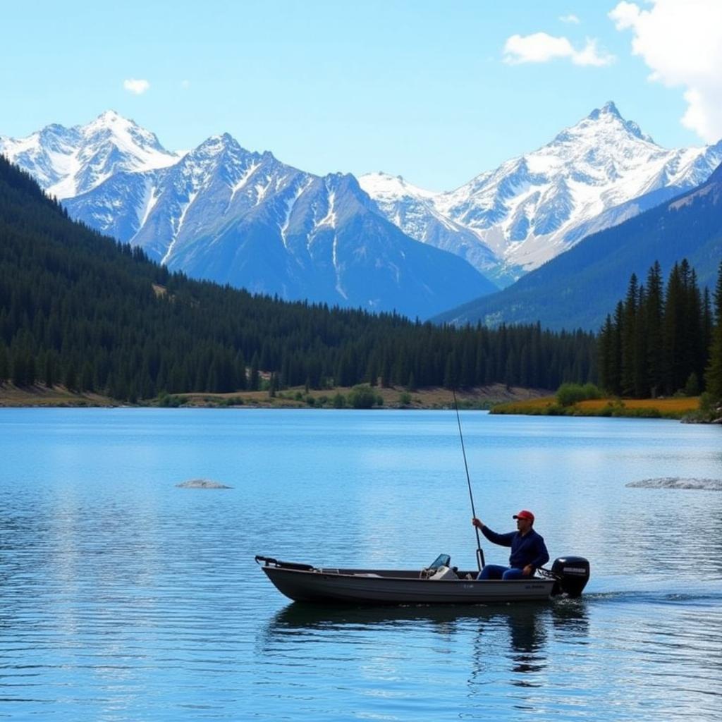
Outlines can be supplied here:
[[[305, 565], [297, 565], [299, 567]], [[418, 571], [373, 569], [294, 569], [261, 567], [282, 594], [294, 601], [336, 604], [494, 604], [544, 601], [553, 579], [432, 580]], [[465, 576], [466, 573], [460, 573]], [[475, 573], [471, 573], [475, 575]]]

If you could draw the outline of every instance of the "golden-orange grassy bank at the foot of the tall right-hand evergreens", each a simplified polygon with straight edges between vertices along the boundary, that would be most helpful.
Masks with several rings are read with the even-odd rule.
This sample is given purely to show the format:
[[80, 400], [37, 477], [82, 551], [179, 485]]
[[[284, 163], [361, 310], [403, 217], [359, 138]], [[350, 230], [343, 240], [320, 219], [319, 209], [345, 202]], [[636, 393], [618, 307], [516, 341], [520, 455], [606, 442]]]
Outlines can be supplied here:
[[561, 406], [556, 396], [510, 401], [492, 409], [492, 414], [532, 416], [611, 416], [643, 419], [682, 419], [700, 407], [699, 396], [672, 399], [589, 399]]

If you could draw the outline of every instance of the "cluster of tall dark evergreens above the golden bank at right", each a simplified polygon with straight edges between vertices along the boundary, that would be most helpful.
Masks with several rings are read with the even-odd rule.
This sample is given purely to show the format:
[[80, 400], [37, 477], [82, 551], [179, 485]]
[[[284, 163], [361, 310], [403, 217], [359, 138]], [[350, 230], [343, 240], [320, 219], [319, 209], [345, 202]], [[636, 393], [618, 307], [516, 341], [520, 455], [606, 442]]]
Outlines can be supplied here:
[[722, 399], [722, 263], [711, 299], [686, 259], [674, 264], [666, 286], [658, 262], [644, 284], [632, 274], [599, 334], [599, 380], [617, 396], [706, 391]]

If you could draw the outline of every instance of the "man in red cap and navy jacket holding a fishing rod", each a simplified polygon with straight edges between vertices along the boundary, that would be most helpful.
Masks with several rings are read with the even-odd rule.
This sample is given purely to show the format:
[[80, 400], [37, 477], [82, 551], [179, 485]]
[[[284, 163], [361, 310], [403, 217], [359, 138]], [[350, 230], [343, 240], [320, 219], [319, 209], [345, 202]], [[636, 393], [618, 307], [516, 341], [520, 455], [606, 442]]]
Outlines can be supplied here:
[[471, 519], [471, 523], [481, 529], [482, 534], [493, 544], [511, 547], [508, 567], [485, 564], [477, 579], [523, 579], [534, 576], [534, 572], [549, 561], [544, 538], [532, 529], [534, 514], [523, 509], [513, 518], [516, 519], [517, 531], [510, 531], [508, 534], [497, 534], [476, 517]]

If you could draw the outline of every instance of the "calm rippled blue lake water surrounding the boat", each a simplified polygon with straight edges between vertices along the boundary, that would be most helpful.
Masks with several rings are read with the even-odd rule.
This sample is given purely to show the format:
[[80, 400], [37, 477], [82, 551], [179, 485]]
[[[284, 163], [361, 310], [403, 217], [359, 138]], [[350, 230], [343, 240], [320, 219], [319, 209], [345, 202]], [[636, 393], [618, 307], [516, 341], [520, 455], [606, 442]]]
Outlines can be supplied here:
[[722, 479], [720, 427], [461, 421], [477, 515], [533, 510], [582, 599], [307, 609], [256, 567], [473, 567], [453, 412], [1, 410], [0, 718], [721, 720], [722, 493], [625, 487]]

